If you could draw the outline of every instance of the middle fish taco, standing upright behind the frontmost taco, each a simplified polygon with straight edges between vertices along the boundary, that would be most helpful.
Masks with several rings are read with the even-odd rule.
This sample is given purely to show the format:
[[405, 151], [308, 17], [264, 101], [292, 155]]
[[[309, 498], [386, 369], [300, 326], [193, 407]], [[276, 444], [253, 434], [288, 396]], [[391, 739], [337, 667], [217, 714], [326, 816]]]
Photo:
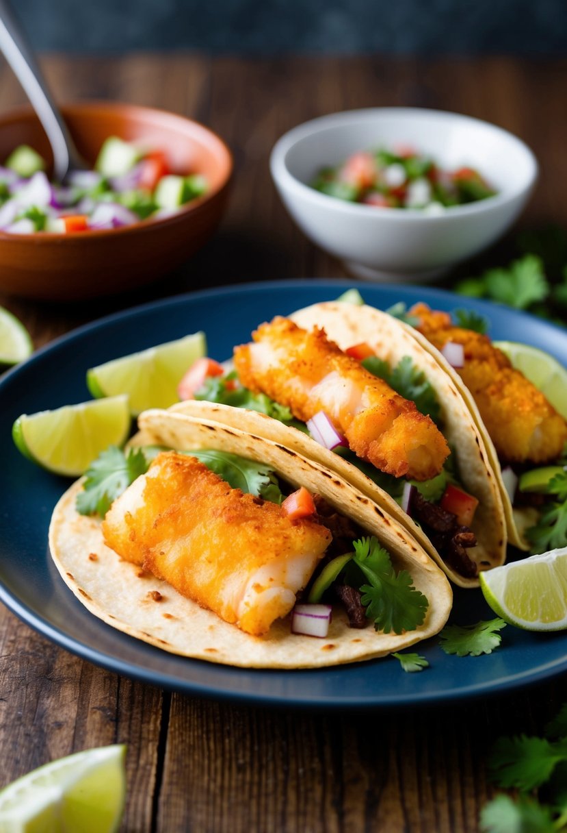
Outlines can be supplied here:
[[[253, 338], [235, 348], [233, 372], [205, 380], [172, 411], [246, 421], [337, 471], [405, 526], [457, 585], [478, 586], [481, 570], [505, 561], [504, 508], [482, 431], [402, 322], [372, 307], [325, 302], [277, 317]], [[264, 413], [239, 416], [234, 405]]]

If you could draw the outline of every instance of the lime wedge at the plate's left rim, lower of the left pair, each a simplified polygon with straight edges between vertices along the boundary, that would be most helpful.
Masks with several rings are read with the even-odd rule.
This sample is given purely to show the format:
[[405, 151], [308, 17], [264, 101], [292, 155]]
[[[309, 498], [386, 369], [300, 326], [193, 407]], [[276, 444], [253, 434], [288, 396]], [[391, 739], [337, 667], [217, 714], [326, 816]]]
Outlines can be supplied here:
[[22, 414], [12, 426], [19, 451], [57, 474], [81, 475], [108, 446], [130, 433], [128, 397], [108, 397], [55, 411]]

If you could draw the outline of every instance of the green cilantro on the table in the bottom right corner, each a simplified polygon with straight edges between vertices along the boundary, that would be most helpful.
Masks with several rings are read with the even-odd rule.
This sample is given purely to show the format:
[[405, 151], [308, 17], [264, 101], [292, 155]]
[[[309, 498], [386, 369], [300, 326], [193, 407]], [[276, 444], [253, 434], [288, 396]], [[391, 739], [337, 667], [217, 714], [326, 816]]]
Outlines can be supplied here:
[[504, 793], [481, 811], [483, 833], [567, 831], [567, 704], [545, 726], [543, 736], [504, 737], [487, 762], [488, 777]]

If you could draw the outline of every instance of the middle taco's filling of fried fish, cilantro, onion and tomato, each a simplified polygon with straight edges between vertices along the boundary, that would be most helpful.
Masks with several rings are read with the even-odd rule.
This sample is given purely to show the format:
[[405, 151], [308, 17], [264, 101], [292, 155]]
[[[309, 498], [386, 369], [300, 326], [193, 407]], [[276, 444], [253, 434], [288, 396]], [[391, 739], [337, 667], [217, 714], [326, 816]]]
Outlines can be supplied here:
[[[491, 552], [484, 563], [486, 546], [471, 556], [479, 498], [461, 483], [436, 390], [412, 357], [392, 366], [367, 343], [342, 350], [324, 329], [282, 317], [259, 327], [253, 339], [234, 349], [234, 370], [216, 366], [184, 396], [264, 412], [308, 431], [332, 457], [345, 458], [396, 501], [402, 507], [398, 519], [403, 512], [412, 518], [452, 574], [476, 580], [480, 568], [502, 560]], [[486, 465], [479, 467], [476, 477], [482, 479]], [[503, 541], [499, 546], [503, 551]]]

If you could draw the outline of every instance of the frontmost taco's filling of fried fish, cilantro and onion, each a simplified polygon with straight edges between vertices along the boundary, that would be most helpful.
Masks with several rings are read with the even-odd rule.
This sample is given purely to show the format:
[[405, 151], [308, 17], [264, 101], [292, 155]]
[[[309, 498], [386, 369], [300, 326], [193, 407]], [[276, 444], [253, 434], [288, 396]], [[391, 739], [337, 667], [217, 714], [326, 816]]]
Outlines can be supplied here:
[[[411, 576], [396, 573], [377, 538], [323, 496], [227, 451], [134, 453], [149, 466], [104, 513], [102, 538], [181, 596], [251, 636], [264, 636], [275, 620], [299, 610], [296, 601], [303, 604], [294, 632], [309, 632], [302, 616], [326, 616], [328, 626], [330, 603], [343, 606], [350, 627], [372, 622], [400, 634], [422, 625], [428, 601]], [[95, 464], [94, 480], [87, 472], [77, 497], [81, 512], [92, 508], [85, 496], [91, 482], [98, 484], [98, 470]], [[321, 603], [327, 611], [313, 614]]]

